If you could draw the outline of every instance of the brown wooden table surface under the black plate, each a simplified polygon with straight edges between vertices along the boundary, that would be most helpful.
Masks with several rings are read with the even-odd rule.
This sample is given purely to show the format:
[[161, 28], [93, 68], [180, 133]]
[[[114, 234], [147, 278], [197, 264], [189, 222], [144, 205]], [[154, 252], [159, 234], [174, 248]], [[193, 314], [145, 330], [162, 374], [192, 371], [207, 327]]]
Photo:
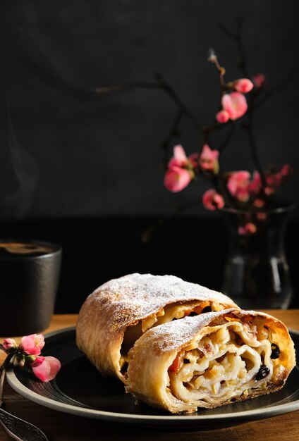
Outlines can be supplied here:
[[[299, 330], [299, 310], [267, 311], [280, 318], [288, 328]], [[51, 325], [44, 333], [75, 325], [76, 315], [54, 316]], [[0, 337], [0, 341], [2, 338]], [[80, 375], [80, 373], [78, 373]], [[83, 373], [84, 375], [84, 373]], [[41, 428], [49, 441], [290, 441], [299, 440], [299, 411], [289, 414], [240, 423], [222, 428], [204, 430], [161, 430], [123, 426], [92, 418], [83, 418], [63, 414], [30, 402], [14, 392], [6, 383], [4, 388], [6, 410]], [[0, 441], [9, 441], [6, 432], [0, 426]]]

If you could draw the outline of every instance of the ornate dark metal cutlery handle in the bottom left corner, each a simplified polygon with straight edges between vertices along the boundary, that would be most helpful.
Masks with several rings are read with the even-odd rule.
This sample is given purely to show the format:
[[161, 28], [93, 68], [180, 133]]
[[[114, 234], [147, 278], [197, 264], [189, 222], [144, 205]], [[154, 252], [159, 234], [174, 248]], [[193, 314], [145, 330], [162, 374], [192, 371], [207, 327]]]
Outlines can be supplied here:
[[48, 441], [42, 430], [0, 408], [0, 423], [14, 440]]

